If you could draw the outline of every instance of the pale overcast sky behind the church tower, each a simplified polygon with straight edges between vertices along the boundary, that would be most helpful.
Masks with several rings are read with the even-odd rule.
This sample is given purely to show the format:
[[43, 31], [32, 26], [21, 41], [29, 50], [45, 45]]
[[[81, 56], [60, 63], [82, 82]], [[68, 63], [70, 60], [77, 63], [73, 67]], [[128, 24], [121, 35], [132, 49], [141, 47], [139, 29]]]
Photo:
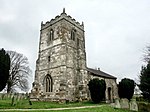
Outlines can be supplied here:
[[88, 67], [138, 79], [150, 45], [150, 0], [0, 0], [0, 48], [24, 54], [34, 77], [41, 21], [63, 8], [84, 22]]

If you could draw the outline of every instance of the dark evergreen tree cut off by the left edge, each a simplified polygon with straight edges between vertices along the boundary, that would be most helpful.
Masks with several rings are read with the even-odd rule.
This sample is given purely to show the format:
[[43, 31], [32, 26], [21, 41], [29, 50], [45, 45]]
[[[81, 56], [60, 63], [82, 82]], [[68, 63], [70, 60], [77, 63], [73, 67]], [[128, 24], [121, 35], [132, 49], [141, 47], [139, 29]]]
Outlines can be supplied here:
[[2, 91], [9, 78], [10, 58], [4, 49], [0, 50], [0, 91]]

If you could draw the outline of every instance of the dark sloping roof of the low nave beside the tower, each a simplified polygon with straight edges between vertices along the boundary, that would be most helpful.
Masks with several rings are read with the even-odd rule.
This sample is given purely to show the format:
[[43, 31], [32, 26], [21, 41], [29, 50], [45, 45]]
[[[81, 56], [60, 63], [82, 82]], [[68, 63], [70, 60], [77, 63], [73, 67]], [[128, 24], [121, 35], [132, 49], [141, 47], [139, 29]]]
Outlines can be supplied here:
[[98, 76], [98, 77], [104, 77], [104, 78], [110, 78], [110, 79], [117, 79], [116, 77], [109, 75], [101, 70], [96, 70], [92, 68], [87, 68], [88, 72], [91, 72], [92, 75]]

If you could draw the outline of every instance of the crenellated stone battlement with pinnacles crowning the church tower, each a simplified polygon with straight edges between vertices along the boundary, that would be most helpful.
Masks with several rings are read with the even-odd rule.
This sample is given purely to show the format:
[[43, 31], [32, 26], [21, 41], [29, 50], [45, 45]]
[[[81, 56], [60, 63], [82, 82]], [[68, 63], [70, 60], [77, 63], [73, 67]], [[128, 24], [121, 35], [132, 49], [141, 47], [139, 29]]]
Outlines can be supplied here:
[[78, 21], [76, 21], [74, 18], [72, 18], [70, 15], [67, 15], [65, 13], [65, 8], [63, 9], [63, 12], [60, 15], [57, 15], [54, 19], [51, 19], [50, 21], [47, 21], [45, 24], [43, 23], [43, 21], [41, 22], [41, 29], [45, 29], [53, 24], [55, 24], [56, 22], [65, 19], [68, 22], [70, 22], [71, 24], [75, 25], [76, 27], [80, 28], [81, 30], [84, 30], [84, 24], [82, 22], [82, 24], [80, 24]]

